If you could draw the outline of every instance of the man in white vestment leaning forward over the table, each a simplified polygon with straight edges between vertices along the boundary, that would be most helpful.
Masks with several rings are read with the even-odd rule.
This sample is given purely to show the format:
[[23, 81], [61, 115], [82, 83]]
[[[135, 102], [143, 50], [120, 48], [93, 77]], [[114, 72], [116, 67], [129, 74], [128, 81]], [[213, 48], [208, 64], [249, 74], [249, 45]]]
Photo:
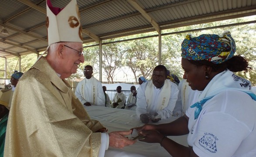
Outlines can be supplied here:
[[140, 85], [137, 94], [137, 116], [143, 123], [158, 122], [172, 116], [178, 96], [177, 85], [167, 79], [167, 69], [157, 65], [152, 80]]

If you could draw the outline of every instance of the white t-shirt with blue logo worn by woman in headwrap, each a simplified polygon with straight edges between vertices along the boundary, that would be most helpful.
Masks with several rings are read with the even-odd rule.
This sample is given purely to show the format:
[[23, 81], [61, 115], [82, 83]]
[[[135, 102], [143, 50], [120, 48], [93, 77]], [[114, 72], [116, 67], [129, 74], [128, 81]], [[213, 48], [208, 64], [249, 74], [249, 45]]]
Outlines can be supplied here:
[[198, 119], [188, 108], [188, 145], [199, 157], [256, 157], [256, 101], [227, 90], [209, 99]]

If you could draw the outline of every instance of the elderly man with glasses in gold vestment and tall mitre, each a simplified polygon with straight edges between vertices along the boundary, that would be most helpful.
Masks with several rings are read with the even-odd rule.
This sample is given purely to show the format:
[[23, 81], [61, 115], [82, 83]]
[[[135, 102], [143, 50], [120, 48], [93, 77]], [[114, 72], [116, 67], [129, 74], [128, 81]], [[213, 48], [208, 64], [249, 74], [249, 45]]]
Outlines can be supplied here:
[[52, 7], [50, 0], [46, 3], [47, 55], [41, 55], [19, 79], [4, 157], [104, 157], [108, 147], [135, 143], [124, 137], [131, 131], [106, 133], [99, 121], [90, 119], [65, 80], [84, 62], [76, 1], [65, 8]]

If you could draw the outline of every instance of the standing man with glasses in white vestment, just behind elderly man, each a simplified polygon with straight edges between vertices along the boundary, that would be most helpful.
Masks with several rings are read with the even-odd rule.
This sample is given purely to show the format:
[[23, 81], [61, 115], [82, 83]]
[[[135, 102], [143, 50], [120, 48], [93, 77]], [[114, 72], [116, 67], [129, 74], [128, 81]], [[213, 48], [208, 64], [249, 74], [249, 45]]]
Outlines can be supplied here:
[[84, 68], [85, 78], [80, 81], [75, 89], [75, 96], [85, 106], [105, 106], [105, 95], [102, 84], [93, 77], [93, 68], [86, 65]]

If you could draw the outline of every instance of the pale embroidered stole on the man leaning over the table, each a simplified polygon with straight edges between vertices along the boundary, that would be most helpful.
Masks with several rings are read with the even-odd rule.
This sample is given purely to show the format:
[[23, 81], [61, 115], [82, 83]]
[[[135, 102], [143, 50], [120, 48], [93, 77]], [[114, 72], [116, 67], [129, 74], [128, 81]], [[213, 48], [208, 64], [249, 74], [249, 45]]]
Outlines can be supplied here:
[[152, 104], [153, 94], [154, 94], [154, 84], [152, 80], [150, 80], [145, 90], [147, 107], [151, 108], [152, 105], [157, 105], [157, 110], [162, 110], [166, 108], [168, 106], [168, 102], [171, 96], [171, 82], [168, 82], [168, 80], [164, 81], [164, 86], [162, 87], [161, 92], [158, 95], [158, 100], [159, 100], [158, 104]]

